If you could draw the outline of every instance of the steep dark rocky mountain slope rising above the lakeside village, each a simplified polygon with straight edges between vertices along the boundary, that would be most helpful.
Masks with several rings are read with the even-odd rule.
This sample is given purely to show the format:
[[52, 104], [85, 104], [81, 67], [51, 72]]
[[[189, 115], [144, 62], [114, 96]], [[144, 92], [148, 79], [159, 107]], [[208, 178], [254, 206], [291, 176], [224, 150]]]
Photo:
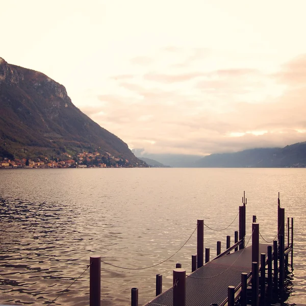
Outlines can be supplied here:
[[0, 58], [0, 157], [82, 151], [108, 152], [130, 166], [145, 166], [126, 143], [75, 107], [63, 85]]

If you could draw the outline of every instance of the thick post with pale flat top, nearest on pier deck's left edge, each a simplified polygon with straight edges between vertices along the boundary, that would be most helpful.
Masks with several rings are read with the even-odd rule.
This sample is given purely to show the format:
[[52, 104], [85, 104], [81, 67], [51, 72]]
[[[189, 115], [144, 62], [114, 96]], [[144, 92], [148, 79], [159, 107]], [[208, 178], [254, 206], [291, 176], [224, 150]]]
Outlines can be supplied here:
[[173, 270], [173, 306], [186, 306], [186, 270]]

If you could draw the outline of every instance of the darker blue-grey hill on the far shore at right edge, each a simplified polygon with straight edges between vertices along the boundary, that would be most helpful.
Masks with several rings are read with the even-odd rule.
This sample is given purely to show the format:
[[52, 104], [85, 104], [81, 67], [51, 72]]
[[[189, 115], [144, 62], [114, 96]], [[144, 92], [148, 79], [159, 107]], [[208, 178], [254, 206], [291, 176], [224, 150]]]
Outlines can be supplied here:
[[211, 154], [203, 157], [196, 167], [306, 167], [306, 142], [284, 148], [255, 148], [235, 153]]

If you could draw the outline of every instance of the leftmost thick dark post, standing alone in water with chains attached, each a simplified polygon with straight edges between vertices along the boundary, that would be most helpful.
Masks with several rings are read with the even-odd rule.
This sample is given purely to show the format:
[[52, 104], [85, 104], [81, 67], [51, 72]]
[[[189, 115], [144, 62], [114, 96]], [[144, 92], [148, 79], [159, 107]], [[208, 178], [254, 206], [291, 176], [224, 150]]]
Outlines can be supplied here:
[[100, 306], [101, 302], [101, 257], [89, 259], [89, 305]]

